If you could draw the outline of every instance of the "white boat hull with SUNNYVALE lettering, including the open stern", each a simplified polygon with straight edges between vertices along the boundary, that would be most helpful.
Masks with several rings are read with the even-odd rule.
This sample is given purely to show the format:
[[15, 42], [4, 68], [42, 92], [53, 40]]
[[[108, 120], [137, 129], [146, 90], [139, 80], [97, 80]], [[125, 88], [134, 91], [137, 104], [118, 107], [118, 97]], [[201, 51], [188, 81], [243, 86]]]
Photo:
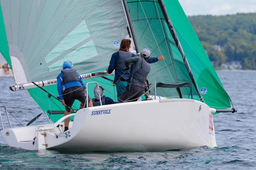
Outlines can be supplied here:
[[[97, 111], [100, 115], [93, 114]], [[147, 100], [81, 109], [67, 131], [70, 137], [62, 133], [56, 138], [54, 129], [56, 133], [60, 131], [52, 129], [52, 125], [4, 129], [1, 135], [10, 146], [29, 150], [161, 152], [217, 146], [211, 108], [191, 99]], [[37, 138], [33, 144], [35, 129]], [[44, 132], [46, 136], [41, 135]]]

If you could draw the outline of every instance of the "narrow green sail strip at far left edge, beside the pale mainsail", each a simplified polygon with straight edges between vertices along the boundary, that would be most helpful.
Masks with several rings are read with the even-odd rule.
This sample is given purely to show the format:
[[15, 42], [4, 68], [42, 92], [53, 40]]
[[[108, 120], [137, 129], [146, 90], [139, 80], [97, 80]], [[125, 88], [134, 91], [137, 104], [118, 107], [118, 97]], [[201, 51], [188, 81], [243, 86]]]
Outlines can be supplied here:
[[1, 39], [0, 39], [0, 44], [1, 44], [0, 45], [0, 52], [4, 56], [4, 58], [7, 61], [7, 63], [12, 68], [12, 63], [11, 63], [11, 58], [10, 58], [10, 53], [9, 53], [6, 33], [5, 33], [4, 19], [3, 19], [3, 15], [2, 15], [1, 2], [0, 2], [0, 37], [1, 37]]

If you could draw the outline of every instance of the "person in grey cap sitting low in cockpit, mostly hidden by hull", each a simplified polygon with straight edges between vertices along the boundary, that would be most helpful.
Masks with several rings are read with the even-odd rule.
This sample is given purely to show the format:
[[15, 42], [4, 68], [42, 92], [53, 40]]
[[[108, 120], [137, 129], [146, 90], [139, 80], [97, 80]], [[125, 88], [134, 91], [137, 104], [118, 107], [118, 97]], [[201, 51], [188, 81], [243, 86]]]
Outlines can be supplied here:
[[103, 87], [99, 86], [95, 86], [94, 87], [94, 99], [92, 99], [92, 104], [93, 106], [100, 106], [100, 99], [101, 99], [101, 104], [102, 105], [110, 105], [110, 104], [115, 104], [116, 102], [114, 100], [112, 100], [109, 97], [106, 96], [102, 96], [103, 94]]

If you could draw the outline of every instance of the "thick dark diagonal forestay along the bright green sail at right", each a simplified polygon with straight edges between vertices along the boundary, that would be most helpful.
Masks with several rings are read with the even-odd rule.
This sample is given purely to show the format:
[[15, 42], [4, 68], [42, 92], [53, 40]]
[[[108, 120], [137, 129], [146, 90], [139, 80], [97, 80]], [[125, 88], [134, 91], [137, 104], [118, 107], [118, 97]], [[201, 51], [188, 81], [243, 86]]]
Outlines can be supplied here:
[[195, 78], [194, 78], [194, 76], [192, 74], [191, 68], [190, 68], [190, 66], [188, 64], [188, 60], [186, 58], [186, 55], [184, 54], [184, 51], [183, 51], [183, 49], [181, 47], [181, 44], [180, 44], [179, 38], [177, 36], [177, 33], [176, 33], [175, 29], [174, 29], [174, 26], [172, 25], [172, 21], [171, 21], [169, 15], [167, 13], [167, 10], [165, 8], [164, 0], [158, 0], [158, 2], [159, 2], [159, 5], [160, 5], [160, 8], [161, 8], [161, 10], [162, 10], [162, 12], [164, 14], [165, 21], [167, 22], [169, 30], [170, 30], [170, 32], [172, 34], [172, 38], [174, 39], [174, 41], [176, 43], [176, 46], [177, 46], [177, 48], [180, 51], [180, 54], [181, 54], [182, 59], [183, 59], [183, 62], [184, 62], [185, 66], [186, 66], [186, 68], [188, 70], [188, 74], [189, 74], [189, 76], [190, 76], [190, 78], [192, 80], [193, 85], [196, 88], [196, 92], [197, 92], [198, 96], [200, 97], [200, 100], [202, 102], [204, 102], [203, 96], [201, 95], [201, 93], [200, 93], [200, 91], [199, 91], [199, 89], [198, 89], [198, 87], [196, 85], [196, 81], [195, 81]]

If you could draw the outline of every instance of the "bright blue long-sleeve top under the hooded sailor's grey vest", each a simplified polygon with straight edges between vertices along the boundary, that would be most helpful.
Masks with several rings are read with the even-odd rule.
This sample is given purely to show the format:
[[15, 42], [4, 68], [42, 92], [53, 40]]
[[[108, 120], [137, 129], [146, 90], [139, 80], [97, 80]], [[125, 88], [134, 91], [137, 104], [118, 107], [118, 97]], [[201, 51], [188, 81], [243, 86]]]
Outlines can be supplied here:
[[61, 72], [57, 76], [57, 90], [58, 90], [58, 93], [59, 93], [59, 96], [60, 96], [60, 100], [64, 99], [63, 91], [65, 89], [68, 89], [70, 87], [75, 87], [75, 86], [83, 86], [83, 88], [85, 89], [85, 85], [84, 85], [83, 79], [81, 78], [81, 76], [79, 75], [78, 72], [76, 72], [76, 74], [79, 77], [80, 81], [71, 81], [71, 82], [66, 83], [65, 85], [62, 85], [62, 81], [61, 81], [63, 79], [63, 73]]

